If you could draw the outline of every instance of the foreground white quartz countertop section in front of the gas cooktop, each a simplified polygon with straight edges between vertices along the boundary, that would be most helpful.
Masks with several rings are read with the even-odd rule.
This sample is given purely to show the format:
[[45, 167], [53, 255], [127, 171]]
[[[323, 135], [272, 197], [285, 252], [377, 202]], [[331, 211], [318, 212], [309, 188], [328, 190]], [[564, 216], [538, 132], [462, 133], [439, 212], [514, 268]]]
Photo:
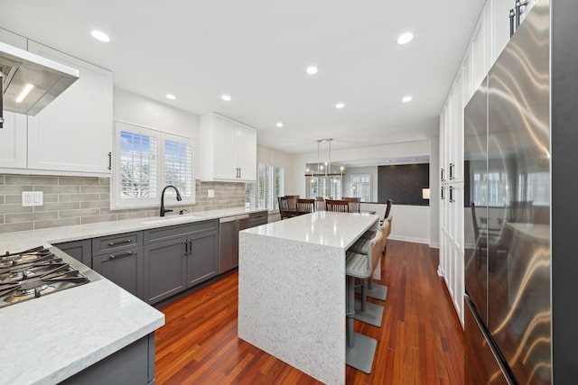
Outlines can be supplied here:
[[109, 280], [0, 309], [0, 384], [55, 384], [164, 325]]

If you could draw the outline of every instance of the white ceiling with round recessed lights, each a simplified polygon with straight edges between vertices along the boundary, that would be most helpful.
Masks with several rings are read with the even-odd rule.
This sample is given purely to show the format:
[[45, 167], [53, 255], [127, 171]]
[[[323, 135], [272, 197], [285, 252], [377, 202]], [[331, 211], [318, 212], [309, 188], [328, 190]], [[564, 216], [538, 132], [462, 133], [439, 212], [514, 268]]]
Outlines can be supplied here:
[[[117, 87], [227, 115], [256, 127], [260, 145], [304, 153], [322, 138], [337, 150], [437, 136], [483, 3], [2, 0], [0, 27], [112, 70]], [[398, 45], [407, 31], [414, 40]]]

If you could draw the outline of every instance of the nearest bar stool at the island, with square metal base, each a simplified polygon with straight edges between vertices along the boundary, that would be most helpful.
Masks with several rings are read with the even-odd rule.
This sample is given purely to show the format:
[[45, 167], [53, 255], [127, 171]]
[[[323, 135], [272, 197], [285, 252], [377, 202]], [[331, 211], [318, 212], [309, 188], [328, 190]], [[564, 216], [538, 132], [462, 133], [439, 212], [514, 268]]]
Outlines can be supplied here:
[[[384, 234], [376, 234], [376, 237], [369, 241], [370, 252], [368, 254], [358, 254], [347, 252], [346, 256], [346, 276], [347, 276], [347, 349], [345, 362], [351, 367], [371, 372], [373, 359], [375, 357], [378, 341], [367, 335], [361, 335], [354, 331], [355, 311], [355, 279], [365, 280], [371, 277], [381, 255], [381, 243]], [[375, 258], [374, 258], [375, 257]], [[383, 307], [382, 307], [383, 309]]]

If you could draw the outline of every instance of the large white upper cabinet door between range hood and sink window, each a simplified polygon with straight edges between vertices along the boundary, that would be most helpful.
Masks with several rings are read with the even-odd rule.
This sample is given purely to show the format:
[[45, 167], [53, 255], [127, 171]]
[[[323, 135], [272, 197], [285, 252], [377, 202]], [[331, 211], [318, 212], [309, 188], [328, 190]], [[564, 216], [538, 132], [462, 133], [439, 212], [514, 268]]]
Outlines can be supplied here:
[[28, 49], [80, 71], [61, 96], [28, 117], [28, 168], [109, 175], [112, 73], [34, 41]]

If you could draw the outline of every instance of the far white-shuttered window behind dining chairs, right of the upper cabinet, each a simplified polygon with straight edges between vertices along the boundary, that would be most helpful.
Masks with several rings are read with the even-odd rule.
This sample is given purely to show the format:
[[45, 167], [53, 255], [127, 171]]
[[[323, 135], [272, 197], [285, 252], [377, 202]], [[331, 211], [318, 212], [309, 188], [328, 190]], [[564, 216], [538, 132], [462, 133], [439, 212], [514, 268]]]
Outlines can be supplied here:
[[284, 168], [273, 164], [257, 164], [256, 183], [247, 183], [246, 206], [275, 210], [277, 197], [284, 196]]

